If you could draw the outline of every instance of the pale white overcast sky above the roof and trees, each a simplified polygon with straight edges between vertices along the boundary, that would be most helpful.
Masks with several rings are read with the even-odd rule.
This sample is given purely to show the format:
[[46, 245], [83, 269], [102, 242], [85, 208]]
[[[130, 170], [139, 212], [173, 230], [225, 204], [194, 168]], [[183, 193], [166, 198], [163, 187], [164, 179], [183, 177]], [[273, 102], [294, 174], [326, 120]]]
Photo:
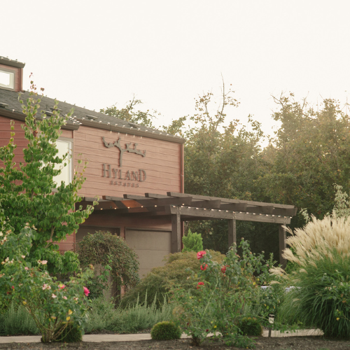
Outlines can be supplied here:
[[[25, 62], [48, 97], [99, 111], [133, 94], [169, 124], [221, 74], [271, 132], [271, 95], [339, 99], [350, 92], [348, 0], [1, 1], [0, 55]], [[347, 91], [347, 92], [346, 92]]]

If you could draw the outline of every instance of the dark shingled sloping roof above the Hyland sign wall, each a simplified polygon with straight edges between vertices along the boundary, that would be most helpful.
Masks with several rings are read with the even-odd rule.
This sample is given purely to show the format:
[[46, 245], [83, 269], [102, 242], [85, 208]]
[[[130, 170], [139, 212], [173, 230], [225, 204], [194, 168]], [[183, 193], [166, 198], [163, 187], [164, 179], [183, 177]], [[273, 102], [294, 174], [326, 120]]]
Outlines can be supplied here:
[[[0, 57], [0, 59], [3, 57]], [[14, 61], [15, 62], [15, 61]], [[21, 99], [25, 100], [29, 97], [29, 92], [22, 92]], [[55, 106], [55, 99], [50, 97], [40, 97], [41, 103], [38, 109], [38, 116], [41, 111], [50, 112]], [[167, 132], [151, 129], [135, 123], [127, 122], [112, 116], [106, 116], [103, 113], [90, 111], [73, 104], [59, 102], [58, 109], [62, 116], [68, 114], [73, 109], [73, 114], [69, 119], [66, 129], [78, 130], [80, 125], [88, 127], [96, 127], [98, 129], [112, 130], [114, 132], [123, 132], [126, 134], [134, 134], [136, 136], [150, 137], [151, 139], [161, 139], [164, 141], [183, 144], [185, 139], [175, 135], [167, 134]], [[22, 113], [22, 104], [20, 103], [19, 94], [15, 91], [3, 90], [0, 88], [0, 113], [9, 118], [25, 120], [25, 115]]]

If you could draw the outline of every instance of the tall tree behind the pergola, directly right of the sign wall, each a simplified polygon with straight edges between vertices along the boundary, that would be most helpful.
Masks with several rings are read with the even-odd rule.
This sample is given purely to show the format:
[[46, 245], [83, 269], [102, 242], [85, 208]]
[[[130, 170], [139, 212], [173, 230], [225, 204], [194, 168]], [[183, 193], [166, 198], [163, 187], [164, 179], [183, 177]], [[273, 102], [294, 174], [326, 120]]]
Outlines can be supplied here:
[[[248, 127], [231, 118], [225, 120], [230, 108], [238, 106], [233, 91], [223, 84], [220, 102], [208, 92], [196, 100], [196, 113], [190, 119], [195, 127], [184, 134], [185, 192], [194, 195], [257, 200], [255, 181], [262, 176], [260, 123], [248, 116]], [[251, 223], [237, 223], [237, 231], [248, 233]], [[200, 232], [204, 248], [222, 253], [228, 251], [228, 226], [225, 221], [193, 221], [188, 224]]]

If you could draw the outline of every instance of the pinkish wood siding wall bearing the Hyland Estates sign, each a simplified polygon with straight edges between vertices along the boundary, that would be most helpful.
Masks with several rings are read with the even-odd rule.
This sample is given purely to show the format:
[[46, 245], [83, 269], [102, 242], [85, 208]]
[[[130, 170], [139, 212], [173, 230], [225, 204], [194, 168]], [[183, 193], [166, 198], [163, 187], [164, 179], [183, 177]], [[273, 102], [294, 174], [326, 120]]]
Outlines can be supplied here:
[[[146, 150], [146, 157], [134, 153], [124, 152], [123, 166], [119, 167], [120, 151], [116, 147], [106, 148], [102, 137], [109, 143], [117, 141], [120, 137], [120, 145], [125, 148], [130, 143], [130, 148]], [[77, 159], [87, 160], [85, 172], [87, 180], [80, 190], [81, 195], [92, 197], [95, 195], [111, 195], [123, 197], [124, 193], [144, 195], [144, 193], [166, 194], [167, 191], [181, 192], [181, 144], [148, 139], [146, 137], [134, 137], [133, 135], [118, 134], [106, 130], [80, 126], [74, 132], [74, 165], [77, 167]], [[103, 176], [103, 164], [105, 168], [122, 170], [121, 179], [114, 179], [115, 173], [111, 170], [111, 178], [105, 172]], [[146, 181], [125, 180], [127, 171], [146, 172]], [[118, 175], [119, 177], [119, 175]], [[113, 185], [111, 184], [113, 181]], [[114, 183], [117, 182], [117, 184]], [[120, 182], [122, 183], [120, 186]], [[125, 186], [124, 186], [125, 183]], [[134, 187], [134, 186], [138, 187]]]

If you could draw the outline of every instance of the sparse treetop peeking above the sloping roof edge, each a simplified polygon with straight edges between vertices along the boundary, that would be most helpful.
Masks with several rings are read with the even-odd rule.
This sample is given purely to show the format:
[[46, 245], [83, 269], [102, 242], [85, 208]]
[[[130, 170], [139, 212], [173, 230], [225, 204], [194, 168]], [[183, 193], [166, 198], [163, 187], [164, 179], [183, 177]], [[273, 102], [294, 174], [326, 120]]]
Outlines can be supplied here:
[[117, 109], [116, 104], [114, 104], [106, 109], [100, 109], [100, 112], [107, 116], [127, 120], [130, 123], [144, 125], [145, 127], [154, 127], [152, 120], [155, 118], [156, 111], [153, 111], [153, 114], [149, 113], [149, 110], [146, 112], [136, 111], [135, 107], [139, 104], [142, 104], [141, 100], [133, 97], [123, 109]]

